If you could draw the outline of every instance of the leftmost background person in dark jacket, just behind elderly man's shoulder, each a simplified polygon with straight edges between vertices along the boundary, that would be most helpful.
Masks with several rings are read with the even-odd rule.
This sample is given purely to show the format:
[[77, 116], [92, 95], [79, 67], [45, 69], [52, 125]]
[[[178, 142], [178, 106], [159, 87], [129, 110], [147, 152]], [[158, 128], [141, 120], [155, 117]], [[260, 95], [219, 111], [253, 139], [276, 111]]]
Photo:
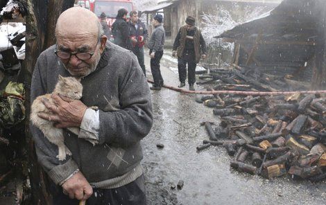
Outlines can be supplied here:
[[117, 19], [112, 24], [112, 35], [114, 44], [131, 51], [131, 42], [129, 38], [129, 29], [127, 20], [128, 11], [124, 8], [118, 10]]

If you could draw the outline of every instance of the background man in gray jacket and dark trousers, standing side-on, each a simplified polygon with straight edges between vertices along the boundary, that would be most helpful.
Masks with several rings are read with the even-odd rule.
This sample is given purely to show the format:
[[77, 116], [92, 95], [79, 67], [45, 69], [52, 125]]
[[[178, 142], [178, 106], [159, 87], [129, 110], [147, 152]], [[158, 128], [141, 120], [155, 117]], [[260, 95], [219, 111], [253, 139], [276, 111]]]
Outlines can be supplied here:
[[154, 85], [151, 87], [152, 90], [160, 90], [164, 84], [160, 70], [160, 60], [163, 56], [165, 41], [165, 30], [162, 26], [162, 21], [162, 15], [155, 15], [153, 17], [152, 25], [154, 30], [148, 42], [149, 55], [151, 56], [151, 71], [154, 80]]

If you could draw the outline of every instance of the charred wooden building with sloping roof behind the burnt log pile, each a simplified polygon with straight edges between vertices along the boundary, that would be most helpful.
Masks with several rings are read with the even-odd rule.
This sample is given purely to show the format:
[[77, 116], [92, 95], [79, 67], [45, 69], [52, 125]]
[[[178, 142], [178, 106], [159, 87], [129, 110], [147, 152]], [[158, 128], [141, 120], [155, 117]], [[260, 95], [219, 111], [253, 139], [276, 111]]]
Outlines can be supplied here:
[[218, 37], [234, 42], [232, 64], [325, 87], [325, 1], [284, 0]]

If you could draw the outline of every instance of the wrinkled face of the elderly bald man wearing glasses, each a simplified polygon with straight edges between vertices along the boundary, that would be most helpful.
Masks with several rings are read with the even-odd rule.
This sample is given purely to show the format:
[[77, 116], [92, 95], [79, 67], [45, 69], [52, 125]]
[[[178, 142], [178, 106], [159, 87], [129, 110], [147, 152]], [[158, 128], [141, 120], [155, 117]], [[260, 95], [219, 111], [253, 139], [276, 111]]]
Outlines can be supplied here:
[[[72, 53], [69, 59], [62, 59], [65, 69], [75, 77], [85, 77], [95, 71], [101, 60], [101, 42], [89, 35], [74, 35], [60, 37], [57, 41], [57, 51]], [[94, 53], [88, 60], [80, 60], [76, 53]]]

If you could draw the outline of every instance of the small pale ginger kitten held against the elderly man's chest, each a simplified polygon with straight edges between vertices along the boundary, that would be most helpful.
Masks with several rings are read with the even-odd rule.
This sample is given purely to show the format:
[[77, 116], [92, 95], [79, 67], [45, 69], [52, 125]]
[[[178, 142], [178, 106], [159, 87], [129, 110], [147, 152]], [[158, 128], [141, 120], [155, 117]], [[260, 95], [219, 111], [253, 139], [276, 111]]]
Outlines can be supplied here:
[[[64, 78], [59, 75], [58, 83], [55, 85], [53, 93], [60, 94], [60, 96], [65, 96], [72, 100], [78, 100], [82, 97], [83, 85], [80, 84], [76, 78], [67, 77]], [[46, 114], [51, 114], [49, 109], [47, 109], [42, 103], [41, 99], [46, 98], [49, 103], [54, 104], [51, 98], [51, 94], [45, 94], [43, 96], [38, 96], [32, 104], [31, 107], [31, 122], [35, 127], [40, 128], [44, 136], [49, 139], [49, 141], [55, 145], [58, 145], [57, 158], [62, 161], [66, 159], [66, 154], [71, 155], [70, 150], [65, 145], [65, 139], [63, 136], [63, 131], [60, 128], [53, 126], [53, 122], [46, 121], [43, 118], [37, 116], [37, 114], [43, 112]]]

